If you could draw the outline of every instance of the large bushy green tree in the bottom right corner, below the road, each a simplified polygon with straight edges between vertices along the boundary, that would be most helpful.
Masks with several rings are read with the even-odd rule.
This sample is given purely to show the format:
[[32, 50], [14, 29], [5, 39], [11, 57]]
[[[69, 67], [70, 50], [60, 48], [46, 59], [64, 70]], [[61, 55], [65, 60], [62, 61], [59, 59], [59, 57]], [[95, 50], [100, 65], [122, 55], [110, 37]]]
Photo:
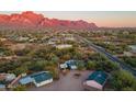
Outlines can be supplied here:
[[111, 86], [114, 90], [136, 90], [136, 78], [125, 70], [114, 71]]

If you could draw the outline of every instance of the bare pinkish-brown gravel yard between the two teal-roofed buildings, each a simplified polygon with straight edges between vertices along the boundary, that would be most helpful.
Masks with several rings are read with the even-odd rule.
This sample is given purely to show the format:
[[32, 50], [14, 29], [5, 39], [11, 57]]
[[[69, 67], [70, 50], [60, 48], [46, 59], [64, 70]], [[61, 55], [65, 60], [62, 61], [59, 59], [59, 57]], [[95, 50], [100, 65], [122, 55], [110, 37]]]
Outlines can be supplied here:
[[70, 70], [65, 76], [60, 73], [59, 80], [39, 88], [29, 88], [29, 91], [83, 91], [82, 82], [90, 73], [88, 70]]

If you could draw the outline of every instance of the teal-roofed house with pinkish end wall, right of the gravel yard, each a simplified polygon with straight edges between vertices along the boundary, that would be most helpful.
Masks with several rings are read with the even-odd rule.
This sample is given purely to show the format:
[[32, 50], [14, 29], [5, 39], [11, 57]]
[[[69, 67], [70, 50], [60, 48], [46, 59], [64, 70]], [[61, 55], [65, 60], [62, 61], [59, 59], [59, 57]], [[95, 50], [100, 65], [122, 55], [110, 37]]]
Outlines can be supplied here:
[[87, 90], [103, 90], [104, 84], [109, 78], [109, 75], [104, 71], [94, 71], [83, 82], [83, 87]]

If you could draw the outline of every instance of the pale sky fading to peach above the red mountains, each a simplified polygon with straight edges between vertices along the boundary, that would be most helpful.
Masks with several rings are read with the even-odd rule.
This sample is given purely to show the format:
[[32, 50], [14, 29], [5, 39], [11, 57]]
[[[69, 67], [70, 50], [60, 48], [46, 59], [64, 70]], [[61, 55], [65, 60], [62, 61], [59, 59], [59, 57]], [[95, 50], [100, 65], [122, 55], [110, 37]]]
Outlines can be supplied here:
[[[84, 20], [98, 26], [136, 27], [136, 11], [34, 11], [45, 18], [60, 20]], [[21, 13], [20, 11], [0, 11], [0, 13]]]

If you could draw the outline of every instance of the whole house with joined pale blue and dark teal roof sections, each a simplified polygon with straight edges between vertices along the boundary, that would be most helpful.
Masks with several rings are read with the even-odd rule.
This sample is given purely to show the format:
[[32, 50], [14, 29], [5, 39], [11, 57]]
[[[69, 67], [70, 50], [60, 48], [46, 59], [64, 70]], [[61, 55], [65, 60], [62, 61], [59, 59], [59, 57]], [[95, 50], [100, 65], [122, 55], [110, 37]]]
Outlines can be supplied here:
[[41, 71], [20, 79], [21, 84], [34, 83], [35, 87], [42, 87], [53, 82], [53, 76], [48, 71]]

